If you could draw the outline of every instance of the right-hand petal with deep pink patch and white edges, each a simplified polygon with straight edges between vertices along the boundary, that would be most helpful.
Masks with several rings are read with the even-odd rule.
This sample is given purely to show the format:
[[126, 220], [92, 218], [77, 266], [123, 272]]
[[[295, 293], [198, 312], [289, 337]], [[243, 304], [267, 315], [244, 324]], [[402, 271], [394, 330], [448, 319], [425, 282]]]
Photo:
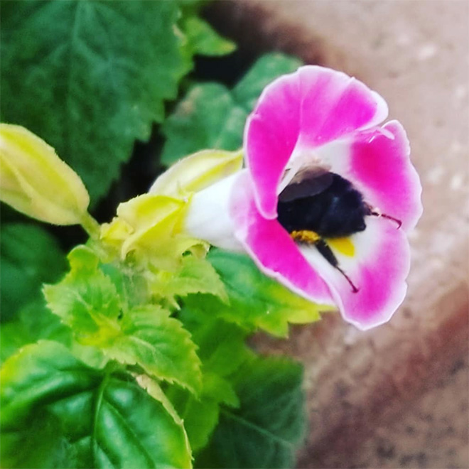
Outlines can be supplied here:
[[406, 132], [397, 121], [318, 149], [321, 163], [350, 180], [365, 201], [409, 231], [421, 217], [421, 183]]

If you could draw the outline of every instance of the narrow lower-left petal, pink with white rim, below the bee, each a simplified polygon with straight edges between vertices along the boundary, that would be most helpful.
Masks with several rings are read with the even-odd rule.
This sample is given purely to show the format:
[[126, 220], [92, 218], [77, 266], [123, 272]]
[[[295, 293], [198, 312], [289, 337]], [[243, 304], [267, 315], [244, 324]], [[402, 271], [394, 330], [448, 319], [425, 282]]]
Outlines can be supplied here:
[[259, 269], [291, 291], [318, 304], [333, 305], [328, 286], [307, 262], [293, 239], [277, 220], [257, 210], [252, 181], [243, 174], [232, 193], [230, 215], [235, 236]]

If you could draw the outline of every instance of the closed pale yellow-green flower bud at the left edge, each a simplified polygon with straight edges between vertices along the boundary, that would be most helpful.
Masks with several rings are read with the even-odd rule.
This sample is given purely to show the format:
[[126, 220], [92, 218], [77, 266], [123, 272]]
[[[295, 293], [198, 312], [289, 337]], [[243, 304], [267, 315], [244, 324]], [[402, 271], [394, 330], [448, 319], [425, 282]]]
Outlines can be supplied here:
[[0, 200], [53, 225], [87, 217], [90, 196], [54, 149], [22, 126], [0, 124]]

